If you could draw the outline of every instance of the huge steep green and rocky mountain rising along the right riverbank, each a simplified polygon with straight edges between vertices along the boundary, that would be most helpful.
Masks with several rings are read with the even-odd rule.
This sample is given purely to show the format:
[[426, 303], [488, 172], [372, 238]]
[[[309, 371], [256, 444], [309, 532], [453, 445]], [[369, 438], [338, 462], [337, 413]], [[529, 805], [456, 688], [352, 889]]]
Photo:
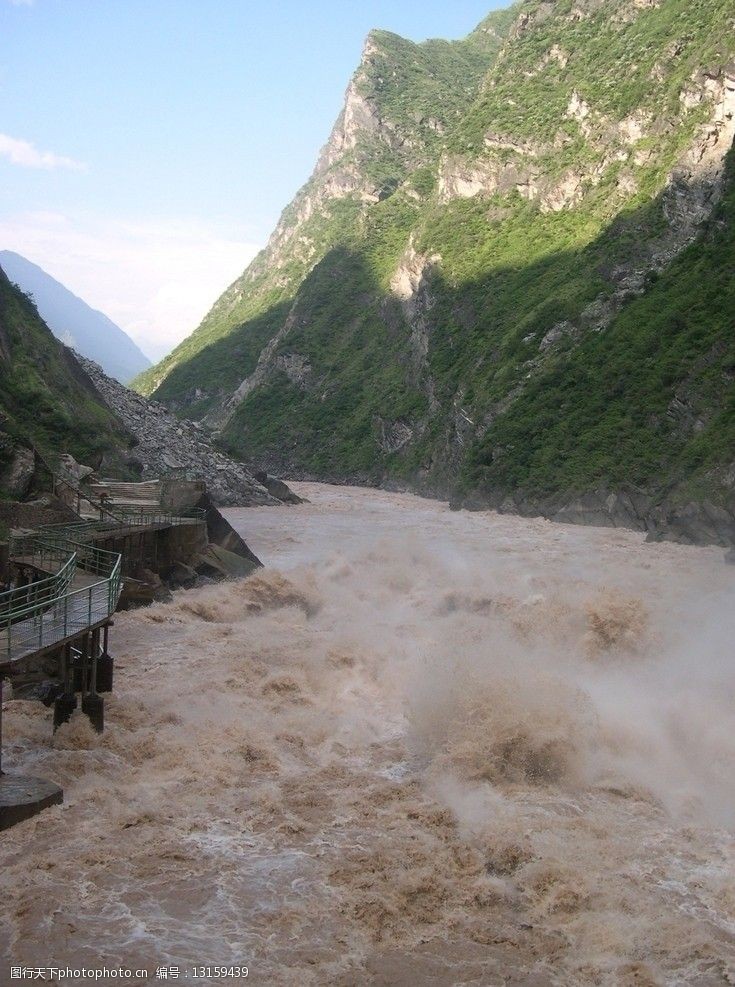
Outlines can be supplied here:
[[733, 38], [729, 0], [372, 33], [267, 248], [140, 387], [301, 475], [727, 542]]

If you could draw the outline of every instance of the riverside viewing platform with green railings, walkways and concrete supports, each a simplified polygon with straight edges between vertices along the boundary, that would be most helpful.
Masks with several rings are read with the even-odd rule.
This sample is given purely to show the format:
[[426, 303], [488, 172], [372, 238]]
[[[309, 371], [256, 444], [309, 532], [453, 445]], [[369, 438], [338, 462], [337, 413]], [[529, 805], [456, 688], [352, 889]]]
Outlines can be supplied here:
[[207, 546], [206, 511], [163, 507], [155, 498], [158, 484], [98, 484], [85, 491], [55, 477], [55, 490], [62, 486], [76, 499], [78, 520], [15, 533], [8, 546], [10, 585], [0, 592], [0, 830], [63, 800], [53, 782], [3, 773], [4, 680], [21, 665], [43, 667], [50, 659], [60, 683], [52, 700], [54, 730], [81, 705], [101, 732], [100, 693], [112, 690], [113, 677], [108, 633], [126, 568], [156, 570], [161, 561], [176, 564], [182, 553]]

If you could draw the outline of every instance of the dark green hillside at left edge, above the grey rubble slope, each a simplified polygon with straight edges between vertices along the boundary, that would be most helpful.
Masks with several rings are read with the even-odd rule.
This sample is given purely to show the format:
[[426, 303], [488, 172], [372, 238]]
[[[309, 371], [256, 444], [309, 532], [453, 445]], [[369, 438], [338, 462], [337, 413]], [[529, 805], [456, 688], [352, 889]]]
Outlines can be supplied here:
[[129, 441], [72, 352], [0, 269], [0, 478], [19, 446], [98, 465]]

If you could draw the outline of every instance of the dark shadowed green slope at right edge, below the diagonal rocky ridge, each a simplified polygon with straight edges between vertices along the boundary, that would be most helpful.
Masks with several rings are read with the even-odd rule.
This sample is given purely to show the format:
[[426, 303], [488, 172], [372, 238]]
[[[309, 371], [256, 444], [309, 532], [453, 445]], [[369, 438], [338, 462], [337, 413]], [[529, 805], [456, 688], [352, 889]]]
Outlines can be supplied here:
[[[629, 221], [629, 220], [628, 220]], [[608, 233], [609, 237], [610, 234]], [[595, 244], [608, 248], [606, 238]], [[735, 155], [698, 239], [604, 332], [560, 346], [473, 448], [477, 488], [693, 483], [735, 458]], [[713, 479], [710, 477], [710, 479]]]

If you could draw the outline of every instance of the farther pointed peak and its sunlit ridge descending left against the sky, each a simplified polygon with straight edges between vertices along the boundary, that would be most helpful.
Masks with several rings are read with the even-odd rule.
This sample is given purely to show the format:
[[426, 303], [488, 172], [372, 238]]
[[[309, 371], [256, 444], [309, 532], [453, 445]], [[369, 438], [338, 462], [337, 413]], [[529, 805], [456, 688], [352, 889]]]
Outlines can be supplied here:
[[[443, 134], [476, 97], [511, 21], [501, 11], [465, 41], [424, 45], [372, 32], [315, 172], [284, 210], [268, 247], [201, 326], [133, 386], [143, 394], [162, 386], [163, 400], [183, 401], [193, 415], [221, 403], [283, 326], [304, 277], [331, 247], [359, 236], [369, 207], [399, 187], [401, 199], [411, 200], [432, 187]], [[244, 331], [217, 347], [233, 329]], [[195, 356], [201, 362], [189, 373]]]

